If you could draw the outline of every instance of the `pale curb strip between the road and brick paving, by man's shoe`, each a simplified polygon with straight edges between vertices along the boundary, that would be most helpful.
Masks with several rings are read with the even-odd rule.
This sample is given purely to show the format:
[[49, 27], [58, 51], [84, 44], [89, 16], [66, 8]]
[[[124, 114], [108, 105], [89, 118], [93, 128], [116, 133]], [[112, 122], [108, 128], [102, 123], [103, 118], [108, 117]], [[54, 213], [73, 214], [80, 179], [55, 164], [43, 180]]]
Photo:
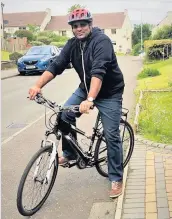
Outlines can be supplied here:
[[122, 216], [122, 207], [123, 207], [123, 201], [124, 201], [124, 195], [125, 195], [125, 186], [126, 186], [126, 181], [127, 181], [127, 175], [128, 175], [128, 164], [124, 169], [123, 192], [122, 192], [122, 195], [119, 196], [119, 198], [117, 200], [114, 219], [121, 219], [121, 216]]

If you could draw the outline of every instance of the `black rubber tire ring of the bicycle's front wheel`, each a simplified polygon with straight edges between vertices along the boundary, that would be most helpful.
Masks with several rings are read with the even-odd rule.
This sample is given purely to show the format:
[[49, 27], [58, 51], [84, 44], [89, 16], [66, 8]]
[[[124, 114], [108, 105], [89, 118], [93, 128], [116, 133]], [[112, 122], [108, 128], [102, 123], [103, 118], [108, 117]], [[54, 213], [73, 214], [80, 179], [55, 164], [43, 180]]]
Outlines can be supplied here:
[[49, 194], [50, 194], [50, 192], [53, 188], [53, 185], [54, 185], [54, 182], [55, 182], [55, 179], [56, 179], [56, 176], [57, 176], [57, 172], [58, 172], [58, 154], [56, 156], [56, 160], [55, 160], [55, 163], [54, 163], [53, 176], [52, 176], [51, 182], [49, 183], [49, 188], [48, 188], [47, 192], [45, 193], [44, 197], [42, 198], [42, 200], [40, 200], [40, 202], [33, 209], [31, 209], [31, 210], [24, 209], [24, 206], [22, 204], [22, 194], [23, 194], [23, 189], [24, 189], [24, 185], [25, 185], [25, 180], [26, 180], [26, 178], [29, 174], [29, 171], [31, 170], [33, 164], [35, 163], [35, 161], [44, 152], [50, 152], [51, 153], [52, 152], [52, 146], [45, 146], [45, 147], [43, 147], [43, 148], [41, 148], [37, 151], [37, 153], [32, 157], [32, 159], [30, 160], [30, 162], [26, 166], [26, 168], [23, 172], [23, 175], [21, 177], [19, 186], [18, 186], [17, 208], [18, 208], [19, 213], [23, 216], [32, 216], [33, 214], [35, 214], [42, 207], [42, 205], [45, 203], [46, 199], [48, 198], [48, 196], [49, 196]]

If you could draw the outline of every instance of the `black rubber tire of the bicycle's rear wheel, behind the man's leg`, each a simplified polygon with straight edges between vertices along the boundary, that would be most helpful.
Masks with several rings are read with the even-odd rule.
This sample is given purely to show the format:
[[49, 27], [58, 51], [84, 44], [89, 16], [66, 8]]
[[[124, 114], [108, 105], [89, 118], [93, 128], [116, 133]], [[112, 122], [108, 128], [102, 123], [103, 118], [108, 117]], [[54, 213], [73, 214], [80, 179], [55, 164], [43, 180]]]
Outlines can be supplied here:
[[[132, 156], [133, 150], [134, 150], [134, 132], [133, 132], [133, 129], [132, 129], [131, 125], [127, 121], [121, 120], [120, 124], [124, 124], [126, 126], [125, 128], [128, 130], [129, 135], [130, 135], [129, 150], [128, 150], [127, 156], [126, 156], [126, 158], [125, 158], [125, 160], [123, 162], [123, 167], [125, 168], [127, 163], [129, 162], [129, 160], [130, 160], [130, 158]], [[100, 166], [100, 163], [97, 162], [98, 161], [98, 157], [99, 157], [99, 150], [100, 150], [100, 145], [101, 145], [102, 139], [103, 139], [103, 136], [100, 137], [98, 139], [97, 143], [96, 143], [95, 152], [94, 152], [95, 167], [96, 167], [98, 173], [101, 176], [108, 177], [108, 173], [103, 171], [101, 166]], [[107, 150], [107, 148], [106, 148], [106, 150]]]

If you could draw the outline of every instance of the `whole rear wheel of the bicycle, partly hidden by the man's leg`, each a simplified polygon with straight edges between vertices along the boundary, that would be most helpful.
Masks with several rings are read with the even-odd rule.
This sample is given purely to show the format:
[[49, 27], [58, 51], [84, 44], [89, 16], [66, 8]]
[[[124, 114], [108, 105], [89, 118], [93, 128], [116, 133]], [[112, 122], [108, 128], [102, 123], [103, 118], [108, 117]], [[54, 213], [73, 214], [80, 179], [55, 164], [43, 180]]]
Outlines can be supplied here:
[[[132, 156], [134, 149], [134, 132], [131, 125], [127, 121], [120, 121], [120, 134], [123, 147], [123, 167], [125, 168]], [[96, 143], [94, 160], [98, 173], [104, 177], [108, 177], [107, 146], [104, 136], [100, 137]]]

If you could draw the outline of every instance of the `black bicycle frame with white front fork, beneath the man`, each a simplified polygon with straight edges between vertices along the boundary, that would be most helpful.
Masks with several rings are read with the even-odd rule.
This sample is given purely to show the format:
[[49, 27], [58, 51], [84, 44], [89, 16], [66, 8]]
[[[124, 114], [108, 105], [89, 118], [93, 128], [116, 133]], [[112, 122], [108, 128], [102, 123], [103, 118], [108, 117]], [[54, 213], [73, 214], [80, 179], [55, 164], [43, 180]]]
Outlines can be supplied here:
[[[42, 99], [39, 99], [42, 98]], [[45, 104], [47, 103], [50, 108], [54, 109], [55, 107], [55, 102], [51, 102], [49, 100], [46, 100], [45, 98], [39, 96], [37, 99], [37, 103], [39, 104]], [[60, 109], [60, 108], [59, 108]], [[68, 109], [68, 108], [67, 108]], [[124, 109], [124, 108], [123, 108]], [[45, 132], [45, 140], [42, 141], [41, 147], [46, 146], [47, 143], [50, 143], [52, 145], [52, 153], [51, 153], [51, 157], [50, 157], [50, 163], [49, 163], [49, 167], [48, 167], [48, 171], [46, 174], [46, 177], [44, 179], [44, 183], [47, 184], [49, 182], [49, 177], [50, 177], [50, 173], [51, 173], [51, 168], [53, 166], [53, 163], [56, 162], [56, 155], [58, 154], [58, 144], [59, 141], [61, 139], [61, 136], [63, 136], [70, 144], [71, 148], [76, 152], [76, 154], [78, 155], [77, 160], [74, 163], [68, 162], [68, 165], [66, 167], [72, 167], [77, 165], [80, 169], [82, 168], [86, 168], [87, 166], [92, 167], [95, 164], [100, 163], [102, 161], [104, 161], [104, 158], [101, 158], [99, 160], [94, 160], [94, 155], [92, 154], [93, 151], [93, 144], [95, 141], [95, 137], [98, 137], [99, 139], [102, 138], [103, 141], [105, 141], [105, 138], [103, 138], [103, 130], [100, 131], [99, 125], [101, 125], [101, 119], [100, 119], [100, 114], [98, 113], [97, 119], [96, 119], [96, 123], [95, 126], [93, 127], [93, 134], [92, 136], [87, 136], [85, 132], [83, 132], [82, 130], [76, 128], [74, 125], [68, 123], [67, 121], [64, 121], [61, 119], [61, 115], [62, 115], [62, 111], [59, 111], [58, 113], [53, 110], [56, 114], [57, 114], [57, 119], [56, 119], [56, 123], [55, 125], [53, 125], [53, 128], [51, 127], [51, 131], [47, 130]], [[127, 113], [122, 113], [122, 116], [125, 116], [127, 119]], [[121, 116], [121, 119], [122, 119]], [[124, 127], [125, 130], [125, 127]], [[79, 145], [77, 139], [75, 139], [72, 135], [72, 132], [80, 134], [82, 136], [85, 136], [87, 139], [90, 139], [90, 145], [89, 145], [89, 150], [87, 152], [84, 152], [82, 147]], [[125, 131], [124, 131], [125, 132]], [[123, 137], [124, 137], [124, 132], [123, 132]], [[54, 134], [56, 136], [57, 141], [53, 142], [51, 140], [48, 140], [48, 136]], [[122, 137], [122, 140], [123, 140]], [[42, 156], [38, 159], [37, 161], [37, 166], [36, 169], [34, 171], [34, 179], [36, 179], [38, 170], [39, 170], [39, 163], [42, 159]], [[55, 166], [57, 167], [57, 163], [55, 163]]]

